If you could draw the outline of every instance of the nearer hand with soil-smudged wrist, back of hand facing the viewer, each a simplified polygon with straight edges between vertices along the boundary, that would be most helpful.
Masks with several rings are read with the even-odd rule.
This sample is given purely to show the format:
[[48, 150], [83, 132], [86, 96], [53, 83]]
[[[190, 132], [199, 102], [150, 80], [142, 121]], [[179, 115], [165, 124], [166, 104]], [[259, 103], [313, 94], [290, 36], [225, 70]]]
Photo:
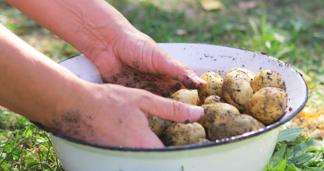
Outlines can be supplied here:
[[97, 144], [163, 147], [148, 127], [147, 117], [194, 122], [203, 108], [170, 100], [148, 91], [111, 84], [90, 84], [74, 109], [55, 116], [51, 127], [67, 136]]

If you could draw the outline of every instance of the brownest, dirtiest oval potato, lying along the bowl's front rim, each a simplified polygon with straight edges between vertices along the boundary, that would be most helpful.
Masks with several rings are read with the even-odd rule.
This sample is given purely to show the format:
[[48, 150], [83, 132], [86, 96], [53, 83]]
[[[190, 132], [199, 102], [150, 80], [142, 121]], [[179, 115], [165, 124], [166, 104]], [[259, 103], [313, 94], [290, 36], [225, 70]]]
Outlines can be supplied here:
[[250, 115], [227, 115], [223, 120], [214, 122], [208, 131], [211, 141], [230, 138], [250, 131], [264, 128], [258, 120]]

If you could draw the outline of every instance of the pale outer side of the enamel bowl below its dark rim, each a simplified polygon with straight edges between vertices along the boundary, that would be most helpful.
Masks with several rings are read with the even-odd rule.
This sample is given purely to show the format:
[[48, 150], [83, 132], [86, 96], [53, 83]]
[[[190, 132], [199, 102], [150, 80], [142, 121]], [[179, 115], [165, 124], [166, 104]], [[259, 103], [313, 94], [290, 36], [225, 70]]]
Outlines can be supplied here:
[[100, 149], [69, 142], [51, 134], [52, 143], [66, 171], [261, 171], [267, 165], [279, 128], [216, 146], [179, 150], [132, 152]]

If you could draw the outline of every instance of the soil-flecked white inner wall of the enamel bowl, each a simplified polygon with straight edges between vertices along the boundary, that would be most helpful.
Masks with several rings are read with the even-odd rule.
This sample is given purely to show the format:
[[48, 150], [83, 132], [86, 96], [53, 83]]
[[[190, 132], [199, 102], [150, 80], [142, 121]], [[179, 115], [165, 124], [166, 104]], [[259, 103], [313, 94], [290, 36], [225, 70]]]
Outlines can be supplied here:
[[[244, 67], [255, 73], [262, 69], [271, 69], [281, 74], [286, 83], [286, 92], [289, 98], [288, 107], [278, 122], [269, 125], [262, 132], [278, 127], [292, 119], [307, 101], [308, 89], [302, 75], [287, 63], [267, 54], [206, 44], [159, 43], [159, 46], [175, 59], [191, 67], [198, 76], [207, 71], [214, 71], [224, 77], [226, 72], [234, 67]], [[81, 79], [98, 84], [103, 83], [96, 66], [83, 55], [70, 58], [60, 64]], [[251, 136], [251, 134], [247, 136]], [[244, 136], [238, 138], [241, 137], [244, 138]], [[230, 140], [226, 139], [222, 142]]]

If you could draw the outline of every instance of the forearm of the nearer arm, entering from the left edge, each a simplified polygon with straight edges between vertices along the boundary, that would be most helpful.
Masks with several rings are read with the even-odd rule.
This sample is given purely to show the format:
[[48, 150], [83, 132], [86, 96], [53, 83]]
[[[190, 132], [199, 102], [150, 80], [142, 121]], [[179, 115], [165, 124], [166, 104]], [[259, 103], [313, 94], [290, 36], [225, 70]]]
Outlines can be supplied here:
[[85, 86], [81, 79], [53, 62], [0, 24], [0, 105], [30, 120], [68, 111]]

